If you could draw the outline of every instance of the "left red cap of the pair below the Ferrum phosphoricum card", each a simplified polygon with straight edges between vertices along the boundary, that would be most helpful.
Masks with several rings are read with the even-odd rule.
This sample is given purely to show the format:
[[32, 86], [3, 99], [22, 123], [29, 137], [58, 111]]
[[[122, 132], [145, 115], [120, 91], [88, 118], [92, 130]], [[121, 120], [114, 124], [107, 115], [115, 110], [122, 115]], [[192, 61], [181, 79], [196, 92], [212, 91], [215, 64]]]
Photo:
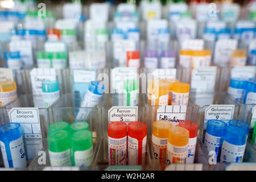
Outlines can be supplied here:
[[111, 138], [123, 138], [127, 136], [127, 125], [121, 121], [111, 122], [108, 125], [108, 136]]

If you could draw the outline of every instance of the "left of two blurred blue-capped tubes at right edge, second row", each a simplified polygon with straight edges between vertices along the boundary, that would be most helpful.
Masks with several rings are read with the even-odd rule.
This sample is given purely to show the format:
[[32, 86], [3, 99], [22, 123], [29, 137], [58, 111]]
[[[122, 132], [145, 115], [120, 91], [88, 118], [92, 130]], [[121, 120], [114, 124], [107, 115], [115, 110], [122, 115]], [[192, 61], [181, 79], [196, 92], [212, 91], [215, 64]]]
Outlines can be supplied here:
[[242, 78], [230, 78], [228, 94], [236, 100], [242, 100], [246, 89], [246, 80]]

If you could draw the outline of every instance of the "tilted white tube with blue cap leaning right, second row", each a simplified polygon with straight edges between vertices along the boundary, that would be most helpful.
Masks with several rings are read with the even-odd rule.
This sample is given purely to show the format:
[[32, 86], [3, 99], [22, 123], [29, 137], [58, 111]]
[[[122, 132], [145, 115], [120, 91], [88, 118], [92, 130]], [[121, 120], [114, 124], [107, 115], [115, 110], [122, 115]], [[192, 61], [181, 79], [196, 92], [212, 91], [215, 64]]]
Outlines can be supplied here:
[[80, 107], [79, 112], [76, 115], [75, 121], [85, 121], [90, 114], [92, 108], [88, 107], [95, 107], [101, 100], [102, 94], [104, 92], [104, 84], [97, 81], [91, 81], [88, 90], [84, 95], [84, 100]]

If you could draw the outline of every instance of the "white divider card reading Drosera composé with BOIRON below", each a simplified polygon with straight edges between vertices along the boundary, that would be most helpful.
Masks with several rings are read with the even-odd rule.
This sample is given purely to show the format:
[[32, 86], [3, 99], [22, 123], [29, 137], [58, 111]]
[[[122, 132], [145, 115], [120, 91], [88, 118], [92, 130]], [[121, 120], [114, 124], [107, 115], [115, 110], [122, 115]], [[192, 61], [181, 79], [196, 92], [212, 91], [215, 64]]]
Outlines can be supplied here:
[[12, 123], [20, 123], [24, 138], [42, 138], [38, 108], [13, 107], [9, 111], [9, 118]]

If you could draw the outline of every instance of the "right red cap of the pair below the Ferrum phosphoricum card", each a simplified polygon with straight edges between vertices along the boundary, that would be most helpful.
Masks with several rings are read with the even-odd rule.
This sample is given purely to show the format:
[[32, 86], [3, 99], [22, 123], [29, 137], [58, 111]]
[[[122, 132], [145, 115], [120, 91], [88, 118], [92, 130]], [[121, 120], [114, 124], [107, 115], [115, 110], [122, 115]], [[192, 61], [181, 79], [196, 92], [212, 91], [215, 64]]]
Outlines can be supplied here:
[[130, 122], [128, 135], [132, 138], [143, 139], [147, 135], [147, 125], [141, 121]]

